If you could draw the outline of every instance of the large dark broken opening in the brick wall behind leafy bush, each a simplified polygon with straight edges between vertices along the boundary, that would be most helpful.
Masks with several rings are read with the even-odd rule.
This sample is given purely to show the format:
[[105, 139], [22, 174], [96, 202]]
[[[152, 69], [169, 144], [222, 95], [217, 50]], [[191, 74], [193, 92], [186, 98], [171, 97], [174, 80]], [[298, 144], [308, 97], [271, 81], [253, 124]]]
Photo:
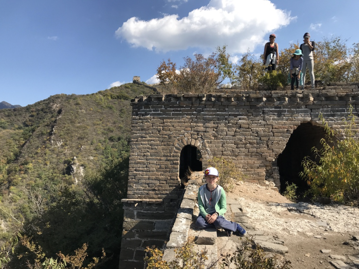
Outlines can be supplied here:
[[324, 138], [326, 132], [323, 127], [315, 126], [310, 122], [302, 123], [293, 131], [283, 152], [279, 154], [277, 164], [279, 168], [280, 192], [284, 193], [286, 182], [289, 185], [297, 185], [297, 197], [302, 199], [303, 194], [309, 189], [306, 180], [299, 177], [303, 171], [302, 161], [309, 156], [311, 160], [319, 162], [315, 157], [312, 147], [318, 150], [322, 148], [320, 140]]

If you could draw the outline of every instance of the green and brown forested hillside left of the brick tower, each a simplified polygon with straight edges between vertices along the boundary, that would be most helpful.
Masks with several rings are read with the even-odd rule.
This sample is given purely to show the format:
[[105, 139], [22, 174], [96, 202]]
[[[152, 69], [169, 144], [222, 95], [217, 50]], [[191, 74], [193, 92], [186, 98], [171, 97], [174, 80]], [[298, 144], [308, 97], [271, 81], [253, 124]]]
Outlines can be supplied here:
[[[20, 232], [55, 258], [88, 243], [89, 256], [104, 248], [103, 268], [118, 266], [130, 99], [151, 93], [130, 83], [0, 110], [1, 245]], [[8, 266], [24, 268], [34, 255], [17, 247]]]

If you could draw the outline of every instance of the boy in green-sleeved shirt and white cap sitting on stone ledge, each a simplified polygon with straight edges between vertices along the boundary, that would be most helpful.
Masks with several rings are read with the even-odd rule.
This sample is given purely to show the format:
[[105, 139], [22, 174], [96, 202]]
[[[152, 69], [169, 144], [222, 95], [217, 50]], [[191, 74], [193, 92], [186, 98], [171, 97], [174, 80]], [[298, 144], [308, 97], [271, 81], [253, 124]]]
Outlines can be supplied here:
[[196, 226], [200, 229], [216, 227], [223, 229], [231, 236], [233, 232], [238, 232], [239, 236], [244, 236], [247, 231], [236, 222], [228, 221], [223, 217], [227, 211], [227, 201], [224, 189], [217, 185], [219, 179], [218, 170], [209, 167], [204, 171], [206, 184], [198, 189], [198, 206], [200, 214], [196, 221]]

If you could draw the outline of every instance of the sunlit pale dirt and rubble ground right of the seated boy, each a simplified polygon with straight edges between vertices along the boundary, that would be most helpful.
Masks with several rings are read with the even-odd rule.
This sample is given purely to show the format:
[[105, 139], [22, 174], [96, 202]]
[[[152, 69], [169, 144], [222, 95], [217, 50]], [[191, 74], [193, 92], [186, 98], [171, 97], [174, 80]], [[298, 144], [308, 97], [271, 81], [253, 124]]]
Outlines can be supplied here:
[[[258, 230], [285, 242], [289, 248], [285, 259], [292, 261], [293, 268], [335, 268], [330, 264], [335, 260], [331, 256], [350, 263], [350, 255], [359, 255], [359, 241], [355, 240], [359, 239], [358, 208], [296, 204], [270, 185], [245, 182], [238, 183], [228, 195], [240, 201], [244, 213]], [[236, 242], [239, 238], [232, 236], [231, 240]]]

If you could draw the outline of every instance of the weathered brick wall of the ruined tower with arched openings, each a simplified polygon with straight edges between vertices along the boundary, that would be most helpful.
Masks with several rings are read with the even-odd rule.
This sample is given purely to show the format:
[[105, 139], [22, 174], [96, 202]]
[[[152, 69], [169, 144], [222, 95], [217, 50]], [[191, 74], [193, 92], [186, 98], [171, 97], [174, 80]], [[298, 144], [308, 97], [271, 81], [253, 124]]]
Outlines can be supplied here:
[[[358, 84], [333, 83], [320, 90], [149, 95], [132, 100], [120, 268], [134, 268], [126, 267], [134, 263], [141, 268], [146, 244], [157, 240], [160, 245], [167, 239], [165, 232], [182, 193], [178, 170], [184, 146], [201, 152], [203, 167], [214, 156], [225, 156], [252, 182], [269, 180], [279, 186], [276, 158], [293, 131], [301, 123], [320, 125], [320, 113], [331, 128], [340, 129], [348, 105], [355, 113], [359, 109]], [[158, 236], [151, 241], [151, 235]]]

